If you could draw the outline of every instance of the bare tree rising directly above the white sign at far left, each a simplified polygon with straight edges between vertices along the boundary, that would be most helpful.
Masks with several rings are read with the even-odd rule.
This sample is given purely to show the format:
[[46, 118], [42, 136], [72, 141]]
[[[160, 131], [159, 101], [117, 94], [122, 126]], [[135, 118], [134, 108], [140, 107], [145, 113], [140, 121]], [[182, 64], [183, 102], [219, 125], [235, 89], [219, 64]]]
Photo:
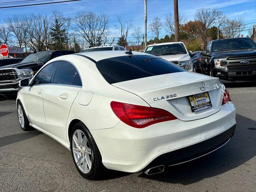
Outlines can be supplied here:
[[16, 15], [13, 17], [6, 18], [5, 22], [8, 26], [11, 36], [14, 38], [14, 46], [22, 47], [23, 45], [27, 51], [26, 36], [28, 28], [26, 26], [26, 15]]

